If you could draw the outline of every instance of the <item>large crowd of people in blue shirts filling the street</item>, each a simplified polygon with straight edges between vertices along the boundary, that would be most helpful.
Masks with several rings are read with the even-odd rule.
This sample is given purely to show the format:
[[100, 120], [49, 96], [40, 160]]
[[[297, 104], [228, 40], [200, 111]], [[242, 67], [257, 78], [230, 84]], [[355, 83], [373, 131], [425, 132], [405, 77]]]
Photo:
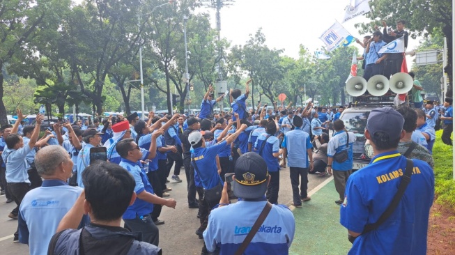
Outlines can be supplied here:
[[[29, 244], [31, 254], [161, 254], [161, 209], [177, 205], [167, 198], [172, 191], [167, 183], [181, 183], [183, 167], [187, 206], [197, 209], [200, 226], [195, 233], [204, 240], [201, 254], [288, 254], [295, 222], [291, 211], [279, 204], [278, 194], [280, 170], [289, 167], [295, 208], [311, 200], [309, 173], [334, 176], [341, 224], [355, 238], [351, 253], [364, 254], [372, 247], [369, 242], [383, 254], [409, 247], [421, 251], [434, 190], [431, 153], [438, 109], [433, 102], [425, 109], [371, 111], [365, 152], [372, 171], [353, 173], [356, 137], [339, 119], [344, 107], [314, 107], [311, 102], [277, 107], [273, 102], [272, 108], [259, 105], [247, 111], [251, 81], [243, 93], [230, 91], [230, 113], [213, 111], [224, 96], [215, 99], [209, 86], [197, 116], [150, 112], [144, 121], [130, 114], [83, 125], [54, 123], [41, 139], [44, 116], [38, 114], [36, 125], [22, 127], [20, 134], [26, 116], [18, 110], [17, 122], [0, 129], [3, 190], [17, 204], [9, 215], [18, 219], [14, 242]], [[440, 119], [445, 130], [452, 128], [449, 98]], [[446, 133], [443, 136], [452, 144]], [[105, 147], [108, 162], [91, 162], [91, 148], [98, 147]], [[389, 222], [373, 230], [382, 236], [378, 244], [371, 233], [363, 234], [364, 226], [376, 222], [383, 212], [377, 208], [385, 210], [392, 200], [394, 192], [383, 196], [381, 190], [396, 190], [394, 180], [403, 176], [406, 157], [414, 164], [407, 199]], [[227, 176], [231, 180], [226, 181]], [[392, 219], [402, 223], [395, 226]], [[232, 232], [227, 226], [233, 222]], [[391, 233], [395, 239], [387, 239]], [[400, 242], [403, 247], [393, 245], [406, 235], [415, 238]], [[419, 249], [413, 246], [417, 242]]]

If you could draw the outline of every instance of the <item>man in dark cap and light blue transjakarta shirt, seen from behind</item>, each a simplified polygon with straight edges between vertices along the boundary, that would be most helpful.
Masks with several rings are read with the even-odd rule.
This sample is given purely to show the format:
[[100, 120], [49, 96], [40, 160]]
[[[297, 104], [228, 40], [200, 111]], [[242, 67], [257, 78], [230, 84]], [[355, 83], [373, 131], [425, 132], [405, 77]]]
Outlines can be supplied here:
[[267, 164], [258, 153], [245, 153], [238, 158], [234, 172], [233, 192], [239, 200], [229, 204], [227, 183], [224, 183], [219, 208], [210, 212], [203, 232], [208, 251], [219, 249], [219, 254], [235, 254], [268, 204], [270, 212], [243, 254], [288, 254], [295, 220], [286, 206], [270, 205], [265, 199], [270, 182]]

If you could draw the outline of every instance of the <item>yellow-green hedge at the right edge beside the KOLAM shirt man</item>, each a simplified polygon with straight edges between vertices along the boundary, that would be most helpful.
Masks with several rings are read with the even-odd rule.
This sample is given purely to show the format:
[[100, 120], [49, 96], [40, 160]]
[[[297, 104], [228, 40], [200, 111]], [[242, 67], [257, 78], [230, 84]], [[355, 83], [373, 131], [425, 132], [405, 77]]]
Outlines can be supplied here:
[[453, 177], [454, 162], [452, 161], [453, 147], [441, 141], [442, 130], [436, 132], [433, 147], [435, 162], [435, 194], [436, 203], [448, 206], [455, 212], [455, 180]]

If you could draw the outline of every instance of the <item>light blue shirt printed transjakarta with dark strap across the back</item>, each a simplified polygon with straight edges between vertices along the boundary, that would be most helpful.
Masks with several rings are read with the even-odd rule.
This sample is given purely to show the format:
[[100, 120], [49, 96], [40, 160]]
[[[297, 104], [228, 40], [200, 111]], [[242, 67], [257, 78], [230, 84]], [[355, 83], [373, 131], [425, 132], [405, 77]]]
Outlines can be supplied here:
[[[203, 239], [209, 251], [220, 247], [219, 254], [235, 254], [261, 214], [266, 201], [238, 201], [210, 212]], [[295, 219], [286, 206], [272, 205], [245, 254], [288, 254], [294, 239]]]

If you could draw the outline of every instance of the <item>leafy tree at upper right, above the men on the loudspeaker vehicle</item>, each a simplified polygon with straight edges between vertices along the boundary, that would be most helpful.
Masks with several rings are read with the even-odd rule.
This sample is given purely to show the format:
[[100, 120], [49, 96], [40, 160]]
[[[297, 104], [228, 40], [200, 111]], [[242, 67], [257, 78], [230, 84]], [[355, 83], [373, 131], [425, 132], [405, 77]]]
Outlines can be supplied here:
[[[380, 20], [394, 25], [398, 20], [406, 21], [412, 38], [429, 36], [442, 31], [447, 38], [447, 66], [445, 72], [449, 76], [449, 91], [452, 96], [452, 1], [450, 0], [371, 0], [371, 12], [365, 16], [371, 20], [369, 24], [356, 24], [361, 33], [369, 33]], [[393, 7], [392, 7], [393, 6]]]

